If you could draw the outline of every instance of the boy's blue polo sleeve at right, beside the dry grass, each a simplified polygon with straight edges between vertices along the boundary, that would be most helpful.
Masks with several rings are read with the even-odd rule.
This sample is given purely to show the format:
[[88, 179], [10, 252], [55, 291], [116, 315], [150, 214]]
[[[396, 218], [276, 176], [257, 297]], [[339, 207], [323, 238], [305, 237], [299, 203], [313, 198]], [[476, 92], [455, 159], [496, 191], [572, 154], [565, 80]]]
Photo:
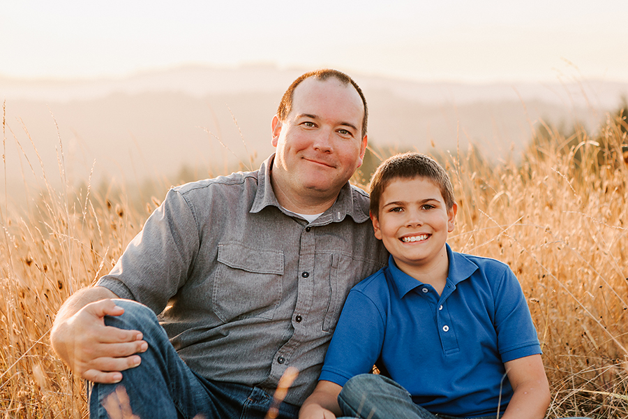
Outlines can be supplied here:
[[495, 330], [502, 362], [541, 353], [528, 302], [509, 267], [495, 295]]

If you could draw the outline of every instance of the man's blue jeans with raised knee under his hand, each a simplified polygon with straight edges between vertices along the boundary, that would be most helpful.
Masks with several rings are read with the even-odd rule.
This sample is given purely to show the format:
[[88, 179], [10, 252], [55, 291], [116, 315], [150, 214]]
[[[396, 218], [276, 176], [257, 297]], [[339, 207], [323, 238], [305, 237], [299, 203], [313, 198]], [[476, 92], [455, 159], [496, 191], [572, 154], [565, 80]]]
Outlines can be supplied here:
[[[140, 330], [149, 348], [140, 354], [139, 366], [122, 372], [120, 383], [89, 385], [90, 418], [127, 418], [132, 411], [140, 419], [263, 419], [273, 406], [273, 398], [260, 388], [198, 376], [181, 360], [151, 309], [129, 300], [116, 304], [124, 314], [106, 316], [105, 324]], [[278, 407], [278, 418], [297, 418], [299, 406]]]

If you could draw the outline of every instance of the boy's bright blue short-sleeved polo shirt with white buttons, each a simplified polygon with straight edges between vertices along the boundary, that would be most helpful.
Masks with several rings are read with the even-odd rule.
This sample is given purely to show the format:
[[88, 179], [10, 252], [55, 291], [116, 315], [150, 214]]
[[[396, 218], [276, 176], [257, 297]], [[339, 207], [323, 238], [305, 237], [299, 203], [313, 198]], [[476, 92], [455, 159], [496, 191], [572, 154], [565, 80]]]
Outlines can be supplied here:
[[[345, 385], [377, 364], [414, 403], [433, 413], [477, 417], [512, 397], [504, 362], [541, 353], [521, 286], [498, 260], [451, 251], [435, 289], [389, 265], [354, 286], [320, 380]], [[502, 381], [503, 378], [503, 381]]]

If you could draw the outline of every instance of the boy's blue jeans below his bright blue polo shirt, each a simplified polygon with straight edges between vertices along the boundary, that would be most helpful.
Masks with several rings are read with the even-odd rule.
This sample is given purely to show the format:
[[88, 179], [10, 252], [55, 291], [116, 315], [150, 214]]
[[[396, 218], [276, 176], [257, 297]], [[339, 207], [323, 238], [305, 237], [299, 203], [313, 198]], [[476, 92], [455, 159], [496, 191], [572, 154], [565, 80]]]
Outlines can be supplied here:
[[[345, 418], [369, 419], [459, 419], [454, 416], [430, 413], [412, 402], [410, 393], [390, 378], [376, 374], [361, 374], [351, 378], [338, 395]], [[500, 416], [504, 412], [500, 412]], [[482, 416], [475, 419], [495, 419]], [[587, 418], [572, 418], [587, 419]]]

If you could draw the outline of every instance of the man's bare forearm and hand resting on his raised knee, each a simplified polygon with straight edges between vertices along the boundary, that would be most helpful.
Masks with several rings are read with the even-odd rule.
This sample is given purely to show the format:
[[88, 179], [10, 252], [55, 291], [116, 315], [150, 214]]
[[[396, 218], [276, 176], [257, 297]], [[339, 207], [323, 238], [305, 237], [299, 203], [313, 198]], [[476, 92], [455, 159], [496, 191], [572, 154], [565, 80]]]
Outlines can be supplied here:
[[148, 344], [137, 330], [105, 326], [105, 316], [120, 316], [124, 309], [117, 298], [102, 286], [83, 288], [66, 300], [50, 332], [52, 348], [81, 378], [95, 383], [117, 383], [121, 371], [140, 365]]

